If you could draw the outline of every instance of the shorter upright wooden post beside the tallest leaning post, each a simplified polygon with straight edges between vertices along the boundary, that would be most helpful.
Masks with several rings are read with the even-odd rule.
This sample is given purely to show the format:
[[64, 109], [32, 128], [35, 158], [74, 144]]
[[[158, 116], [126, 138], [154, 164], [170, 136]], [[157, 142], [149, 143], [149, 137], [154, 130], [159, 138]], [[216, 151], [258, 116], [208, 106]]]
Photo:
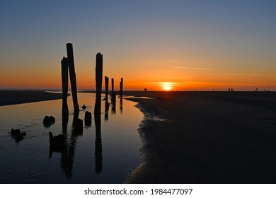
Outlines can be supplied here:
[[66, 119], [69, 115], [68, 105], [68, 59], [62, 59], [62, 117]]

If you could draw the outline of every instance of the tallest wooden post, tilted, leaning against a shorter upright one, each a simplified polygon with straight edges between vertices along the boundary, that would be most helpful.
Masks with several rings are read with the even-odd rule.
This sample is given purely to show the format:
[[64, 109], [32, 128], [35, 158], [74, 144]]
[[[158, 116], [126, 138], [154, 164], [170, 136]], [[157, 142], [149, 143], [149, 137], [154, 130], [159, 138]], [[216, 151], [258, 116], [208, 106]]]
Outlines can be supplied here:
[[67, 43], [66, 47], [67, 47], [67, 57], [68, 57], [72, 98], [73, 98], [73, 104], [74, 104], [74, 112], [79, 112], [78, 97], [76, 93], [77, 92], [76, 91], [76, 73], [75, 73], [75, 66], [74, 66], [73, 45], [71, 43]]

